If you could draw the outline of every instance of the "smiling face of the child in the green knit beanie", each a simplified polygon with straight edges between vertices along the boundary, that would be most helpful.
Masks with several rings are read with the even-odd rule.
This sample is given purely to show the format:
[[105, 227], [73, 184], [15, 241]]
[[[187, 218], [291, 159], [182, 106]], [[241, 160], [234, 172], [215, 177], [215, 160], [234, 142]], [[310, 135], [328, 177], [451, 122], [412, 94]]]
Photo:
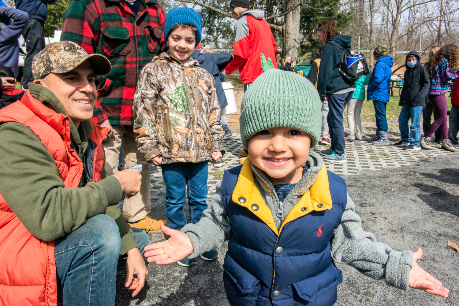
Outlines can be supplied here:
[[296, 184], [308, 160], [311, 137], [294, 128], [268, 128], [249, 139], [250, 160], [273, 185]]

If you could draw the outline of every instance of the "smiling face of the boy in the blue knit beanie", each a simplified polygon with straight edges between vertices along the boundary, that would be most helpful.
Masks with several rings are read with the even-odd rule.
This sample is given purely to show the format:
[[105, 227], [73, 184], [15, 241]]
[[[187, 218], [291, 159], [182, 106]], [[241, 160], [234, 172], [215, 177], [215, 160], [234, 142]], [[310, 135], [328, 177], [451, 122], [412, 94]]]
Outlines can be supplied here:
[[168, 36], [169, 50], [171, 56], [174, 56], [182, 64], [188, 61], [188, 58], [195, 49], [196, 36], [195, 32], [189, 28], [174, 28]]

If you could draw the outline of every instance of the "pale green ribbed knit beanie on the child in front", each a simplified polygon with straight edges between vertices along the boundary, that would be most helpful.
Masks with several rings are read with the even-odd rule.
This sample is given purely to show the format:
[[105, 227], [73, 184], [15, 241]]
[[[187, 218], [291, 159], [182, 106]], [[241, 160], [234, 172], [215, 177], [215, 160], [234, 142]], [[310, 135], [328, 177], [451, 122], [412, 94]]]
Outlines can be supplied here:
[[322, 127], [319, 93], [306, 78], [275, 69], [270, 59], [266, 62], [263, 54], [261, 57], [264, 72], [242, 97], [242, 145], [247, 149], [249, 139], [264, 129], [289, 127], [306, 132], [311, 136], [311, 148], [314, 147]]

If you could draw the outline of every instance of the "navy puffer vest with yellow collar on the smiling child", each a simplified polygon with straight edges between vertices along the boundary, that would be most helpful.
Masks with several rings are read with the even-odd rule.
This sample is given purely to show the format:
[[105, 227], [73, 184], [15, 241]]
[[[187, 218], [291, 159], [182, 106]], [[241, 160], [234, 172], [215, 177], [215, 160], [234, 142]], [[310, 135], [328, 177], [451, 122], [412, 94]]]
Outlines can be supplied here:
[[250, 161], [225, 171], [222, 199], [232, 224], [223, 265], [231, 305], [336, 302], [342, 273], [332, 261], [330, 238], [347, 203], [341, 177], [324, 165], [280, 231], [254, 183]]

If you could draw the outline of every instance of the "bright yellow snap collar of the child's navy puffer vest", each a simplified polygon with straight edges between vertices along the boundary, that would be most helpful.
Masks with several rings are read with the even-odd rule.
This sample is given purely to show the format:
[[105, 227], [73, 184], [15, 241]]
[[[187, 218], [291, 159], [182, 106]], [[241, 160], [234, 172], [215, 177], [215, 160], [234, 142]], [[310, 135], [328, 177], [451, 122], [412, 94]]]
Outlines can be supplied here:
[[[332, 207], [327, 169], [325, 168], [325, 165], [322, 164], [322, 168], [320, 169], [314, 183], [306, 192], [304, 192], [301, 199], [295, 206], [293, 206], [291, 211], [288, 212], [280, 230], [278, 231], [271, 211], [264, 202], [260, 191], [257, 189], [253, 173], [252, 161], [249, 157], [247, 157], [246, 161], [244, 161], [244, 164], [242, 165], [231, 200], [238, 205], [246, 207], [266, 225], [268, 225], [269, 228], [271, 228], [277, 235], [280, 234], [286, 223], [291, 222], [298, 217], [302, 217], [311, 211], [330, 210]], [[307, 175], [308, 172], [303, 175], [303, 178]], [[302, 182], [302, 179], [298, 182], [298, 184]], [[253, 204], [257, 204], [257, 206], [253, 206]], [[254, 210], [253, 207], [257, 209]]]

